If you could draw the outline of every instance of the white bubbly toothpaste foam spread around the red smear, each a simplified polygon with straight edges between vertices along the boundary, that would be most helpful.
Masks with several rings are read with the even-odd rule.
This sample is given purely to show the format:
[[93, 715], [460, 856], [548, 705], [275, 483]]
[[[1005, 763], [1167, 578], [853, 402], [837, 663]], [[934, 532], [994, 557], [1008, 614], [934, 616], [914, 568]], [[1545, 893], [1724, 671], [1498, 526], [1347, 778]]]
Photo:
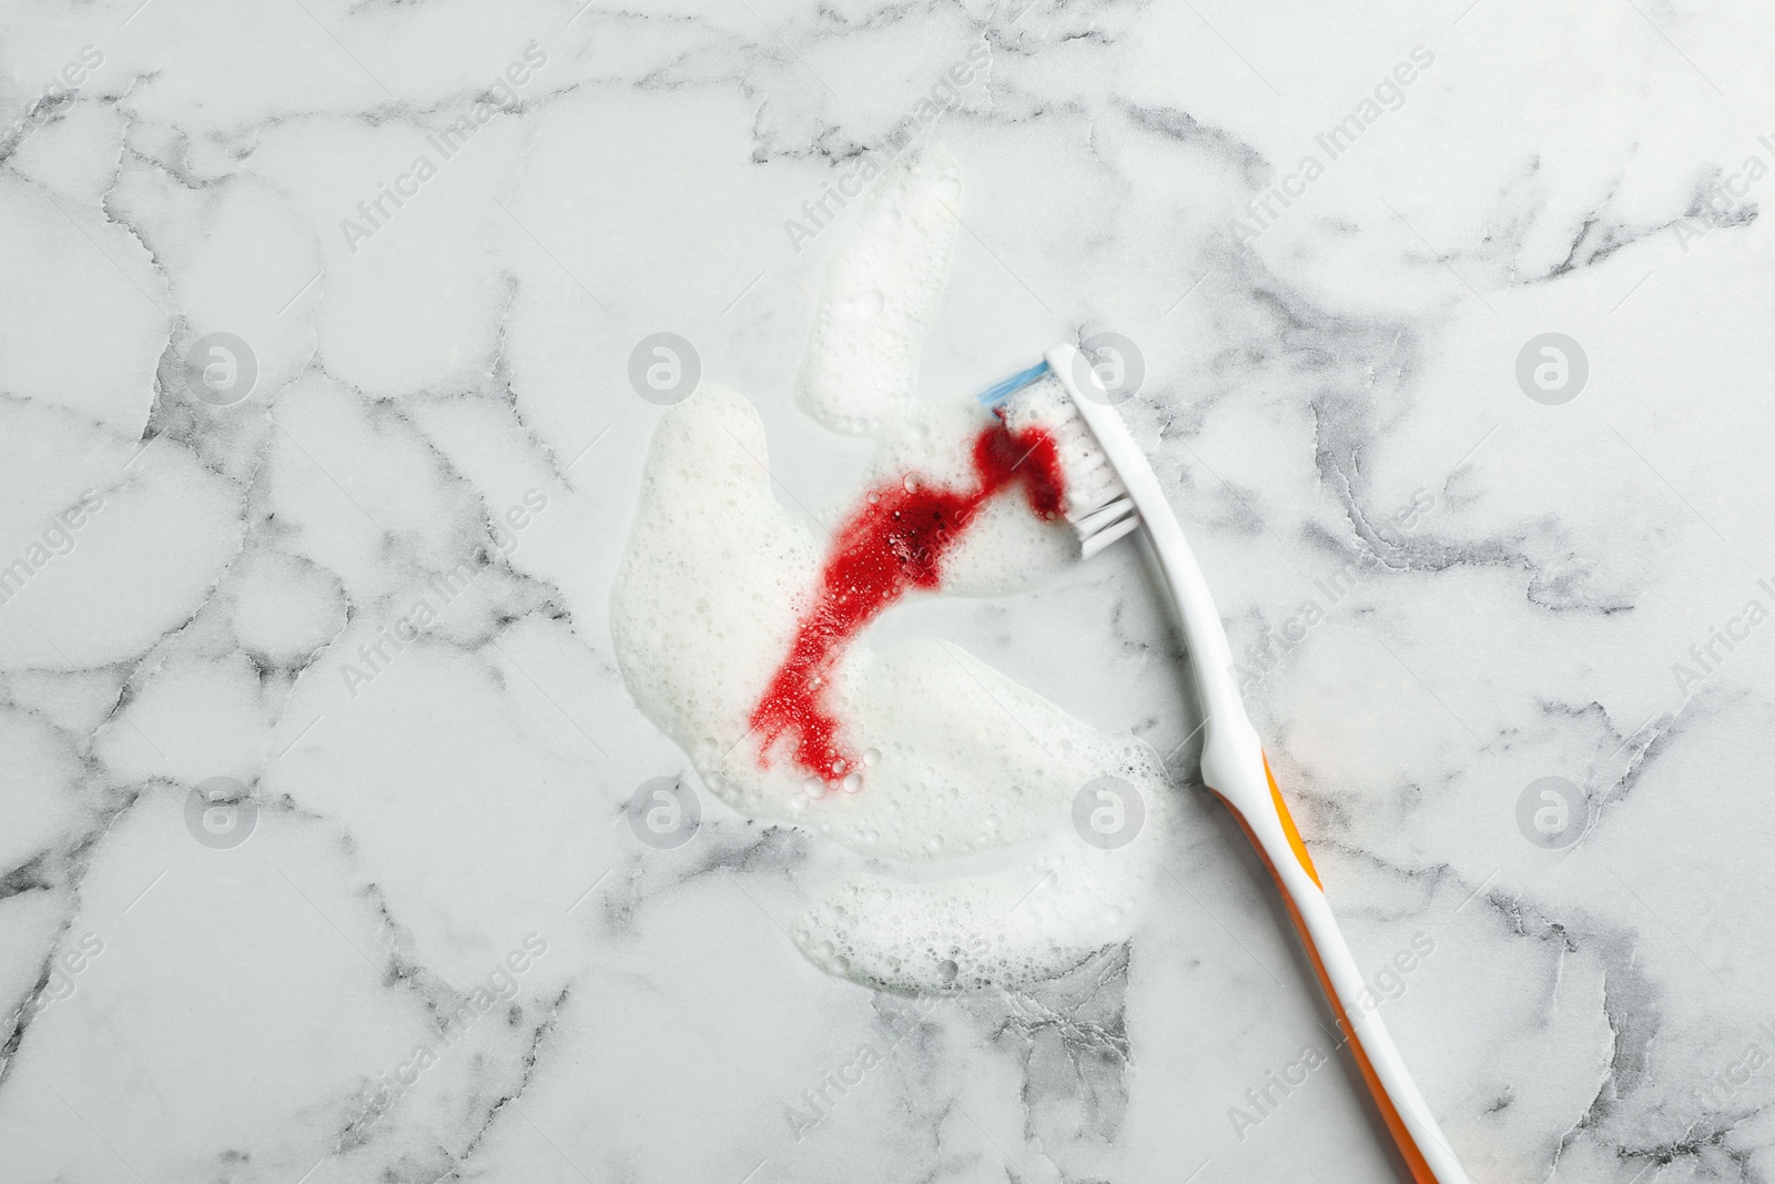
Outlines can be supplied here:
[[[948, 181], [953, 193], [955, 179], [943, 156], [884, 176], [822, 298], [801, 403], [832, 430], [875, 438], [859, 499], [907, 472], [973, 479], [967, 449], [985, 414], [962, 392], [912, 398], [918, 341], [955, 238], [937, 186]], [[829, 705], [845, 746], [864, 754], [859, 785], [825, 792], [815, 781], [811, 795], [783, 744], [760, 762], [749, 717], [788, 653], [829, 541], [779, 506], [767, 463], [758, 414], [731, 391], [705, 385], [664, 415], [611, 600], [637, 705], [710, 790], [754, 818], [896, 863], [1031, 849], [1010, 868], [955, 879], [857, 877], [797, 921], [795, 941], [834, 973], [905, 991], [1026, 983], [1122, 941], [1170, 817], [1157, 758], [955, 646], [875, 651], [864, 634], [848, 648]], [[1005, 593], [1072, 556], [1063, 522], [1038, 520], [1006, 493], [969, 524], [944, 563], [944, 591]], [[1115, 850], [1074, 827], [1081, 788], [1106, 774], [1124, 777], [1147, 813]]]

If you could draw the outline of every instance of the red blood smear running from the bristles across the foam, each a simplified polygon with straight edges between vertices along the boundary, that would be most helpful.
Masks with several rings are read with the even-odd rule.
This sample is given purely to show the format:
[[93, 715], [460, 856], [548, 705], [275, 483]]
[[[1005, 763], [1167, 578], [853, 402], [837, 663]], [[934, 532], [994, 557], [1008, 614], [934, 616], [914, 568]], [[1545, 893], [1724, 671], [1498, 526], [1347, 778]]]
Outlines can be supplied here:
[[916, 478], [882, 485], [838, 529], [788, 657], [753, 708], [751, 724], [763, 733], [760, 765], [769, 765], [772, 746], [792, 735], [795, 763], [822, 781], [854, 770], [857, 760], [840, 742], [838, 719], [825, 705], [850, 641], [907, 591], [943, 582], [943, 557], [987, 499], [1021, 485], [1037, 515], [1060, 513], [1065, 478], [1045, 431], [1014, 435], [994, 421], [974, 438], [973, 462], [974, 488], [939, 488]]

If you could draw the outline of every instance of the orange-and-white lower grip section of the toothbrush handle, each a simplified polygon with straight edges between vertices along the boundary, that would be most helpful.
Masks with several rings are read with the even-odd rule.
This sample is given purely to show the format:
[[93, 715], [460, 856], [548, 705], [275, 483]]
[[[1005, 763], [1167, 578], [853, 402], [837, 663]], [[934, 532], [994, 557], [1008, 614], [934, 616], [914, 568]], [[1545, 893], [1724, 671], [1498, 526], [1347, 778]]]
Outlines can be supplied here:
[[[1361, 980], [1356, 960], [1351, 957], [1337, 918], [1331, 914], [1331, 905], [1319, 882], [1319, 872], [1314, 868], [1312, 856], [1306, 854], [1306, 845], [1301, 841], [1301, 834], [1294, 827], [1294, 818], [1282, 801], [1276, 777], [1269, 772], [1269, 760], [1262, 753], [1258, 753], [1258, 760], [1262, 762], [1262, 774], [1264, 781], [1267, 781], [1273, 809], [1251, 811], [1257, 813], [1253, 820], [1234, 804], [1234, 797], [1219, 790], [1214, 790], [1214, 793], [1227, 804], [1232, 817], [1237, 818], [1239, 827], [1251, 840], [1257, 854], [1274, 877], [1276, 888], [1282, 889], [1289, 918], [1301, 935], [1301, 944], [1306, 946], [1306, 957], [1312, 960], [1319, 985], [1324, 989], [1326, 999], [1331, 1003], [1331, 1012], [1337, 1015], [1337, 1026], [1344, 1033], [1351, 1054], [1356, 1058], [1361, 1079], [1369, 1086], [1369, 1093], [1374, 1097], [1374, 1104], [1381, 1111], [1381, 1120], [1399, 1147], [1399, 1154], [1406, 1161], [1413, 1182], [1466, 1184], [1468, 1177], [1461, 1172], [1448, 1140], [1443, 1138], [1436, 1118], [1411, 1081], [1411, 1074], [1406, 1070], [1406, 1063], [1399, 1056], [1386, 1024], [1381, 1022], [1372, 1003], [1363, 1003], [1363, 996], [1369, 994], [1367, 985]], [[1235, 793], [1235, 797], [1250, 802], [1253, 795], [1246, 792]]]

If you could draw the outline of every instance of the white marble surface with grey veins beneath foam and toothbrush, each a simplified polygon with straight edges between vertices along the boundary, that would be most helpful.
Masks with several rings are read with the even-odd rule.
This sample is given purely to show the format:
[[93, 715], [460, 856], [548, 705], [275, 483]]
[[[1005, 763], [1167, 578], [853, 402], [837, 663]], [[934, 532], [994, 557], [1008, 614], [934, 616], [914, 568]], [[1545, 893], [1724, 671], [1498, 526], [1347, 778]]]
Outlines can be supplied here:
[[1173, 875], [1070, 976], [872, 994], [785, 932], [815, 836], [625, 822], [687, 767], [607, 625], [630, 350], [694, 343], [836, 506], [864, 446], [790, 392], [847, 215], [785, 222], [980, 46], [921, 389], [1140, 344], [1358, 960], [1432, 944], [1384, 1014], [1473, 1179], [1775, 1177], [1775, 28], [1640, 0], [11, 5], [0, 1177], [1392, 1179], [1347, 1060], [1232, 1120], [1331, 1040], [1132, 552], [877, 630], [1168, 756]]

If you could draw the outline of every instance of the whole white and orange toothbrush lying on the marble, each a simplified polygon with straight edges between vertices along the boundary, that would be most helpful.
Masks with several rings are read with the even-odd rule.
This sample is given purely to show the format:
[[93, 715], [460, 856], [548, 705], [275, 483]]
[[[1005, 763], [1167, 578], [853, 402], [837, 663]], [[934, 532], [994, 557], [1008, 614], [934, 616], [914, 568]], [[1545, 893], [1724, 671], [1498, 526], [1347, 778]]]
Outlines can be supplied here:
[[[1058, 389], [1056, 383], [1042, 382], [1047, 376], [1058, 382]], [[1232, 648], [1207, 580], [1202, 579], [1202, 568], [1184, 541], [1152, 465], [1134, 444], [1122, 415], [1109, 405], [1095, 371], [1074, 346], [1058, 344], [1040, 364], [978, 398], [1014, 433], [1038, 430], [1054, 440], [1065, 476], [1063, 509], [1079, 534], [1083, 557], [1147, 527], [1159, 570], [1177, 602], [1207, 714], [1202, 781], [1237, 818], [1282, 889], [1319, 985], [1324, 987], [1338, 1028], [1411, 1179], [1416, 1184], [1466, 1184], [1466, 1173], [1436, 1127], [1436, 1118], [1413, 1085], [1379, 1014], [1361, 1005], [1367, 994], [1361, 971], [1338, 930], [1319, 872], [1289, 817], [1264, 747], [1244, 712], [1232, 675]]]

